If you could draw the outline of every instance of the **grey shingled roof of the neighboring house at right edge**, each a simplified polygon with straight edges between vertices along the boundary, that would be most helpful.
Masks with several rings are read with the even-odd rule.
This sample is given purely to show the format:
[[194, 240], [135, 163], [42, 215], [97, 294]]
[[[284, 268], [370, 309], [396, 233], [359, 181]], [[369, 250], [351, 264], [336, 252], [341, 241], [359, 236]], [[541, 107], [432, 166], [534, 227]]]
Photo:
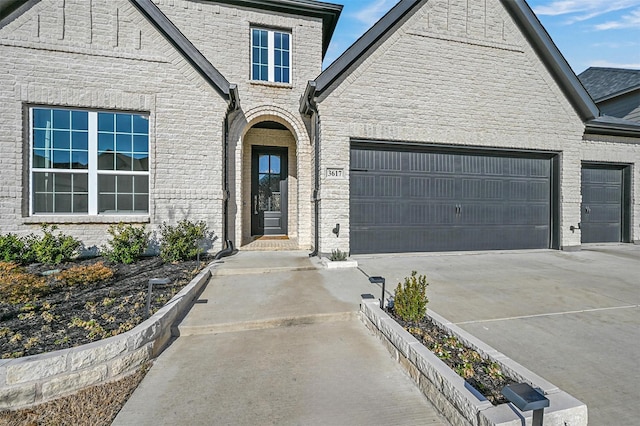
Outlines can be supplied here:
[[578, 78], [602, 114], [640, 123], [640, 70], [591, 67]]

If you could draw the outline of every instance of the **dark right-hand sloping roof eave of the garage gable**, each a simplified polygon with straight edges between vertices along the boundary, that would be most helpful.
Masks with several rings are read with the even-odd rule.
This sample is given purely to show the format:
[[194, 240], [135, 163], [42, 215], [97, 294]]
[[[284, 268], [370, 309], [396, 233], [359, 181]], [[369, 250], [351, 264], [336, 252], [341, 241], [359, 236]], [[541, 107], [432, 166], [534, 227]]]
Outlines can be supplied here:
[[600, 111], [595, 102], [525, 0], [501, 1], [511, 16], [520, 24], [525, 36], [582, 120], [588, 121], [598, 117]]

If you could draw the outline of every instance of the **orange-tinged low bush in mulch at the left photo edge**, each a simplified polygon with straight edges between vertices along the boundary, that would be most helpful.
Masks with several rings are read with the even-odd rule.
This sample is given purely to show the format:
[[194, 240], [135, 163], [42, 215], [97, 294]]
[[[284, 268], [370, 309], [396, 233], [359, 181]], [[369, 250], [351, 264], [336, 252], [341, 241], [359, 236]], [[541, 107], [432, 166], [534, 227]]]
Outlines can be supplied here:
[[0, 299], [11, 304], [25, 303], [48, 289], [44, 277], [26, 273], [15, 263], [0, 262]]

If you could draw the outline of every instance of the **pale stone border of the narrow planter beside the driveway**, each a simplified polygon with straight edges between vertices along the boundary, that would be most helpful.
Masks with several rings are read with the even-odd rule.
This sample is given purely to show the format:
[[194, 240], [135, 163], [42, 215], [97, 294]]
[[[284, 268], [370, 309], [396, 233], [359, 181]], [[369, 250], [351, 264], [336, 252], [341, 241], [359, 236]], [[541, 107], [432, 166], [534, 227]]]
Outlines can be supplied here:
[[[541, 390], [550, 402], [550, 406], [544, 411], [545, 425], [582, 426], [587, 424], [587, 406], [584, 403], [434, 312], [430, 311], [429, 316], [482, 356], [500, 364], [514, 379]], [[360, 305], [360, 318], [367, 328], [382, 340], [422, 393], [452, 424], [473, 426], [531, 424], [532, 412], [522, 413], [512, 404], [492, 405], [381, 310], [379, 301], [363, 299]]]

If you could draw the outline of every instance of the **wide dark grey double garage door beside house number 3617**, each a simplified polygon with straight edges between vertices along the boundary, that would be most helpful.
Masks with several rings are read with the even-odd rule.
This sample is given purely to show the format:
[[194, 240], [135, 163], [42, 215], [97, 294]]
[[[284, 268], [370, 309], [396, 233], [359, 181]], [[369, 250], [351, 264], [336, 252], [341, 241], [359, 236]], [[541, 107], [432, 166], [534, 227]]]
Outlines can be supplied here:
[[552, 161], [353, 144], [351, 252], [550, 248]]

